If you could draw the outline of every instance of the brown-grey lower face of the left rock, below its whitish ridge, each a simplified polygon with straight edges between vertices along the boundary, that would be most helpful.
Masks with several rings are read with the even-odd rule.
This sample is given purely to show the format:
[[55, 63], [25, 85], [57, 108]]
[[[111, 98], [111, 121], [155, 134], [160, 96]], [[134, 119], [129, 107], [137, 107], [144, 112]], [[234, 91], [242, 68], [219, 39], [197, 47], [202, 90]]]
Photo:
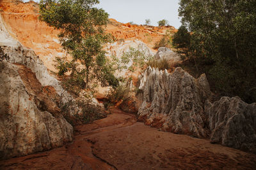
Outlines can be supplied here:
[[[72, 141], [73, 128], [56, 104], [43, 93], [31, 90], [19, 69], [10, 62], [0, 62], [0, 159], [49, 150]], [[37, 88], [40, 91], [42, 87]]]

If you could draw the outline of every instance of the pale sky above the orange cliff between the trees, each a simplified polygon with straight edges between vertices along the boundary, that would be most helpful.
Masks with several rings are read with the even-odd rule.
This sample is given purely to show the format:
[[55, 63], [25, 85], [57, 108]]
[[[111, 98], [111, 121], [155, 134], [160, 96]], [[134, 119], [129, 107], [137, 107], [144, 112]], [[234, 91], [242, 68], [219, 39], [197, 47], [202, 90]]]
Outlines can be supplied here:
[[103, 8], [109, 13], [109, 18], [118, 22], [145, 24], [145, 19], [150, 19], [151, 25], [156, 26], [157, 21], [165, 19], [177, 29], [181, 25], [178, 16], [179, 0], [100, 0], [97, 7]]

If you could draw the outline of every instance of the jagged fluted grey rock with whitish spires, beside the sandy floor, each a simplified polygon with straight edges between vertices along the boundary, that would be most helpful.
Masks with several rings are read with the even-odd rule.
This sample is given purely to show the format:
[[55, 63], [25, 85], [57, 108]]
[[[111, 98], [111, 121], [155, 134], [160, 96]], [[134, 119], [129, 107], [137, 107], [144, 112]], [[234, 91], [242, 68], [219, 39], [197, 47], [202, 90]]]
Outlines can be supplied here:
[[181, 67], [173, 74], [148, 67], [140, 78], [139, 120], [163, 131], [205, 137], [204, 102], [210, 95], [205, 79], [203, 74], [196, 80]]

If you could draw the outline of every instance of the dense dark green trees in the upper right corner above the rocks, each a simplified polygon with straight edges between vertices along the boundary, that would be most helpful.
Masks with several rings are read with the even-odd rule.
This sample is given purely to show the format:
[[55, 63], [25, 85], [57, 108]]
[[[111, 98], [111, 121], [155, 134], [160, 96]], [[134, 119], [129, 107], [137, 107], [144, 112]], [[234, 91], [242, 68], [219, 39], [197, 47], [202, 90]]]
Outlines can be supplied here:
[[[256, 101], [255, 8], [250, 0], [180, 0], [183, 27], [174, 42], [184, 59], [205, 68], [216, 90], [248, 103]], [[190, 38], [184, 27], [193, 32]]]

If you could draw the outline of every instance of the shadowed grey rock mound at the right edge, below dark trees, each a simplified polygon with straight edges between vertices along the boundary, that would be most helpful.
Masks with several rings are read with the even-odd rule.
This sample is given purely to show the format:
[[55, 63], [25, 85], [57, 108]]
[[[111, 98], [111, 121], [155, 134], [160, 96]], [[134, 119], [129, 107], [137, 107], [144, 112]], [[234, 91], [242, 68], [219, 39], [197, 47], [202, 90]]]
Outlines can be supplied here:
[[211, 143], [256, 153], [256, 103], [244, 103], [239, 97], [222, 97], [205, 104], [209, 117]]

